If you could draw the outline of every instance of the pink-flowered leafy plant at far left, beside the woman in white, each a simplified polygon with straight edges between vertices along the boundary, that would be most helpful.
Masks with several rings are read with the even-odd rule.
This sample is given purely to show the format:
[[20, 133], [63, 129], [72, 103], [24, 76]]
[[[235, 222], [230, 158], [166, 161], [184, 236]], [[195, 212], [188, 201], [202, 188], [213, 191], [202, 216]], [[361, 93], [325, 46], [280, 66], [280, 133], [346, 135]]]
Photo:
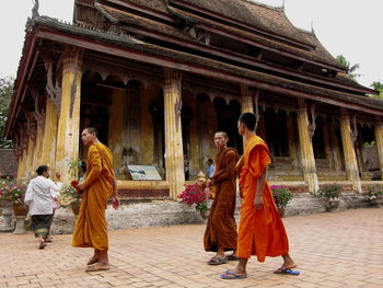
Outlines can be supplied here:
[[24, 203], [26, 184], [16, 178], [0, 180], [0, 199], [10, 203]]

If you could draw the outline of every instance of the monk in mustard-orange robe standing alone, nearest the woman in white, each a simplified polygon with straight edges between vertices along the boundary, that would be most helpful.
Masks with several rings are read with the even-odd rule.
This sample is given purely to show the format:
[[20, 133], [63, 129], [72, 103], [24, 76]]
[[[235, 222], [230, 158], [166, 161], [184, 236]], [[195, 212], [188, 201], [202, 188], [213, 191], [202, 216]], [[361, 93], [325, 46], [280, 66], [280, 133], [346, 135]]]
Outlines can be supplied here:
[[108, 238], [105, 210], [113, 196], [113, 207], [119, 206], [116, 178], [113, 171], [111, 150], [97, 139], [95, 128], [88, 127], [81, 134], [89, 147], [86, 177], [77, 185], [83, 191], [79, 217], [72, 238], [72, 246], [94, 247], [94, 255], [88, 262], [86, 272], [109, 269], [107, 255]]

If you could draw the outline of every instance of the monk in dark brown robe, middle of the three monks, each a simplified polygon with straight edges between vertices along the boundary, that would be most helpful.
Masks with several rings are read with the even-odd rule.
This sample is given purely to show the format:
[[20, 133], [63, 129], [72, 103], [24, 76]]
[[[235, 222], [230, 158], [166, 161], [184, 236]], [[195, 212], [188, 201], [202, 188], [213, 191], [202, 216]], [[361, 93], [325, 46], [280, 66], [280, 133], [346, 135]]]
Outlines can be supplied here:
[[[210, 265], [220, 265], [228, 260], [237, 260], [236, 250], [236, 223], [235, 211], [235, 164], [239, 159], [234, 148], [227, 147], [229, 137], [227, 133], [219, 131], [214, 135], [214, 143], [219, 149], [216, 158], [216, 171], [207, 181], [207, 186], [216, 191], [208, 223], [205, 230], [204, 244], [206, 251], [217, 252], [208, 262]], [[225, 251], [233, 251], [225, 257]]]

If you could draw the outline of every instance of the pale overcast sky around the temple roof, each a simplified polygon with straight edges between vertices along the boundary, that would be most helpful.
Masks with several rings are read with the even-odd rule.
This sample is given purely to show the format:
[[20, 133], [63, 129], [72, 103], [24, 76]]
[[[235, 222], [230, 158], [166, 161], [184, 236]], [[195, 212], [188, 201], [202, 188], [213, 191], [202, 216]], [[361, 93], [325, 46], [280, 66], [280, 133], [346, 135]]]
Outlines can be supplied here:
[[[0, 12], [0, 77], [16, 73], [25, 22], [33, 7], [32, 0], [3, 2]], [[73, 2], [39, 0], [39, 12], [71, 21]], [[283, 0], [259, 2], [281, 5]], [[383, 0], [285, 0], [285, 9], [295, 26], [311, 31], [313, 23], [316, 36], [334, 57], [343, 54], [351, 64], [359, 64], [358, 72], [362, 76], [358, 81], [361, 84], [369, 87], [373, 81], [383, 81]]]

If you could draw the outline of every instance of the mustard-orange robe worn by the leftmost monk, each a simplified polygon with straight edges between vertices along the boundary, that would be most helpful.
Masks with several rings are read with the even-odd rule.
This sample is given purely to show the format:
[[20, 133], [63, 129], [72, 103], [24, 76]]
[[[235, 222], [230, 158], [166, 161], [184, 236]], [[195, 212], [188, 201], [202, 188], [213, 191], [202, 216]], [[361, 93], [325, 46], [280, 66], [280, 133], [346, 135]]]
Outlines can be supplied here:
[[103, 143], [88, 151], [85, 188], [72, 238], [72, 246], [107, 250], [105, 209], [113, 196], [114, 174], [111, 150]]

